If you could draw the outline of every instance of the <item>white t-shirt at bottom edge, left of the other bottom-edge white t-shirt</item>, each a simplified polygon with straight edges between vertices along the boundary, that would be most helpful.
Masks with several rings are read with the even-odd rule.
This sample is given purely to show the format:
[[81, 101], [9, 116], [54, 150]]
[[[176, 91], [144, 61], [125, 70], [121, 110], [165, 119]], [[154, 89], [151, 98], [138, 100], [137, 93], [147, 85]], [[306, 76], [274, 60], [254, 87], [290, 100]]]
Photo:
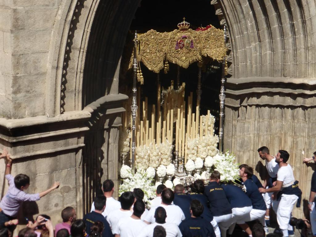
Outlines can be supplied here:
[[147, 224], [140, 219], [125, 217], [119, 219], [112, 233], [119, 234], [120, 237], [138, 237], [146, 226]]

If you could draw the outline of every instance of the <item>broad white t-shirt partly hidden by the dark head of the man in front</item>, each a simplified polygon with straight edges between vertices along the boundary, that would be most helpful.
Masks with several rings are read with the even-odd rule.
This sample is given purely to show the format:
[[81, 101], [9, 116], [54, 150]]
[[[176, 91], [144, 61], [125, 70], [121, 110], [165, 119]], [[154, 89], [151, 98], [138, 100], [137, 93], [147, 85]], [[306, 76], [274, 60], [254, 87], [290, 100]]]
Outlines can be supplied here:
[[[181, 208], [179, 208], [177, 205], [164, 205], [160, 204], [160, 207], [163, 207], [166, 210], [167, 213], [167, 218], [166, 222], [169, 223], [174, 223], [177, 226], [185, 219], [185, 216], [183, 214], [183, 211]], [[154, 223], [155, 222], [155, 210], [157, 207], [151, 208], [148, 212], [148, 215], [145, 217], [144, 221], [147, 221], [149, 223]]]

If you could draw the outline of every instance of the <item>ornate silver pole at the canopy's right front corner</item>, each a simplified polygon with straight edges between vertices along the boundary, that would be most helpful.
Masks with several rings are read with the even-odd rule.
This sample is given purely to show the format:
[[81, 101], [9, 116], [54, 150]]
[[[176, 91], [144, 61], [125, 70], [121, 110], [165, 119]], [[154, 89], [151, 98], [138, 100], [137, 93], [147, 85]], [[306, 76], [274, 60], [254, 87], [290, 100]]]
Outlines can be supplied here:
[[[226, 26], [224, 26], [224, 45], [226, 48]], [[225, 67], [226, 67], [226, 56], [222, 62], [222, 79], [221, 79], [221, 92], [219, 94], [219, 106], [220, 106], [220, 113], [219, 113], [219, 151], [223, 152], [223, 121], [224, 121], [224, 106], [225, 106]]]

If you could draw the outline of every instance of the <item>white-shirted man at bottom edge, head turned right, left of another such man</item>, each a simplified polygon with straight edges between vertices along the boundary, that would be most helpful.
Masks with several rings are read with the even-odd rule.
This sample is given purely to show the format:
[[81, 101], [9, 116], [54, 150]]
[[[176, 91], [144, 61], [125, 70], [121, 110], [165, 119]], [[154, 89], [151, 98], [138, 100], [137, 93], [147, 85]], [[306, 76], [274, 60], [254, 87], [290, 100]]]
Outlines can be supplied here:
[[119, 219], [112, 233], [115, 237], [138, 237], [147, 226], [140, 217], [145, 211], [145, 203], [137, 199], [133, 206], [133, 214]]

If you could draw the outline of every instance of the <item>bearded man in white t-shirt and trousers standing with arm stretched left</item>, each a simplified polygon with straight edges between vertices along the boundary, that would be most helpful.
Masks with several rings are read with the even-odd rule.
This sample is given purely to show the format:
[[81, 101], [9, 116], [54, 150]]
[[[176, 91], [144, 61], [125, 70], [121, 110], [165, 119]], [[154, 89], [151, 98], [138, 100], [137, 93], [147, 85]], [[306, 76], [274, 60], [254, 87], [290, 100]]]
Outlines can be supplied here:
[[280, 166], [277, 172], [276, 185], [268, 189], [259, 188], [261, 193], [278, 192], [276, 199], [279, 203], [276, 203], [278, 206], [273, 207], [273, 209], [277, 208], [276, 219], [284, 237], [289, 236], [288, 226], [292, 210], [296, 201], [296, 207], [300, 207], [302, 194], [298, 187], [298, 181], [295, 181], [292, 167], [287, 163], [289, 156], [287, 151], [279, 150], [276, 155], [276, 162]]

